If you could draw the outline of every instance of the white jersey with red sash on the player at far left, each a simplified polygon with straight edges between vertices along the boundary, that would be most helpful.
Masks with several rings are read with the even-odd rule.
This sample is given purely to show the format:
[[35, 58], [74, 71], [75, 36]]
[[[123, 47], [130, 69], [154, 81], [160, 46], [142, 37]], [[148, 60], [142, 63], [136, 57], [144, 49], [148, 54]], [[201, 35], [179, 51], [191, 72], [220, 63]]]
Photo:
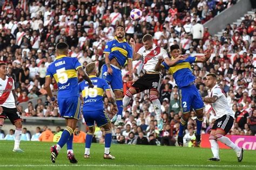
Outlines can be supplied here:
[[16, 108], [14, 95], [12, 95], [11, 91], [14, 89], [14, 79], [8, 76], [6, 76], [5, 80], [0, 78], [0, 106]]

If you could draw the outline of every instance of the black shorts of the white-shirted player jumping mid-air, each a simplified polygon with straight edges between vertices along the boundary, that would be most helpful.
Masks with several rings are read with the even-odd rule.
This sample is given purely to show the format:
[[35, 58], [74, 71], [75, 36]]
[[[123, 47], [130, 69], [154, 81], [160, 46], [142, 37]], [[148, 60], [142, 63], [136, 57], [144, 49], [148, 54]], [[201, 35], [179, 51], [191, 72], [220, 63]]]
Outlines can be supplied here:
[[161, 87], [160, 74], [144, 74], [131, 86], [131, 88], [136, 89], [137, 93], [140, 93], [147, 89], [156, 90], [159, 92], [160, 87]]

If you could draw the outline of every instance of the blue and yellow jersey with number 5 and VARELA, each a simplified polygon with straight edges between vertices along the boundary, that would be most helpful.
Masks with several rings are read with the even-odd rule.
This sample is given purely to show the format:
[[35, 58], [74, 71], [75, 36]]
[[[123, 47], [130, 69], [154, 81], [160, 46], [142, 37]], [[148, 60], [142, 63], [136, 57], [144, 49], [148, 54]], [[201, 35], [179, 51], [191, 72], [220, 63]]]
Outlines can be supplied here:
[[58, 98], [79, 96], [77, 69], [82, 67], [77, 58], [57, 56], [47, 68], [46, 77], [54, 77], [58, 84]]

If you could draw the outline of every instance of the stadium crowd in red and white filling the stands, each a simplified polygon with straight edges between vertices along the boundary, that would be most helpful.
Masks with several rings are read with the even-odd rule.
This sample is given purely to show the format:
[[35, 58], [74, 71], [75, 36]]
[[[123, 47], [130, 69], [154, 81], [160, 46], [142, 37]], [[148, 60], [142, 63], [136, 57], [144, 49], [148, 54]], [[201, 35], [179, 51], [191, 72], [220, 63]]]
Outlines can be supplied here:
[[[1, 3], [2, 2], [2, 3]], [[55, 60], [55, 46], [68, 42], [71, 57], [76, 57], [83, 67], [92, 61], [100, 68], [104, 64], [103, 50], [107, 41], [114, 38], [114, 27], [126, 27], [126, 39], [136, 40], [136, 50], [142, 46], [142, 37], [149, 33], [154, 43], [170, 51], [170, 46], [179, 44], [181, 51], [190, 55], [213, 49], [211, 60], [193, 65], [196, 85], [202, 97], [207, 96], [205, 76], [218, 75], [230, 107], [235, 114], [231, 134], [254, 135], [256, 132], [256, 18], [246, 16], [240, 25], [227, 24], [219, 39], [208, 32], [202, 24], [230, 8], [236, 1], [0, 1], [0, 60], [8, 63], [8, 76], [15, 80], [19, 103], [37, 100], [46, 95], [44, 89], [46, 69]], [[131, 9], [143, 11], [139, 22], [133, 22]], [[234, 56], [231, 59], [231, 54]], [[142, 61], [134, 61], [134, 80], [142, 75]], [[127, 67], [122, 69], [124, 94], [131, 86]], [[57, 91], [53, 80], [51, 89]], [[172, 75], [163, 72], [159, 93], [164, 131], [157, 132], [154, 109], [147, 91], [133, 97], [129, 107], [124, 108], [125, 126], [113, 130], [116, 143], [175, 145], [180, 110], [178, 88]], [[112, 105], [104, 99], [105, 111], [112, 118]], [[22, 108], [22, 116], [59, 117], [58, 108], [51, 105], [50, 98], [43, 103], [39, 98], [35, 106], [28, 102]], [[203, 124], [204, 133], [211, 130], [214, 121], [211, 106], [206, 104]], [[191, 143], [196, 129], [196, 116], [192, 111], [184, 140]], [[32, 140], [23, 130], [24, 139]], [[36, 130], [39, 139], [41, 129]], [[79, 131], [79, 132], [78, 132]], [[52, 140], [55, 135], [47, 128]], [[56, 134], [60, 128], [56, 130]], [[13, 136], [13, 130], [5, 139]], [[76, 133], [76, 132], [75, 132]], [[77, 129], [77, 133], [82, 131]], [[83, 132], [84, 133], [84, 132]], [[3, 136], [3, 134], [1, 134]], [[83, 134], [85, 136], [85, 134]], [[4, 137], [2, 137], [4, 138]], [[11, 137], [10, 137], [11, 138]], [[1, 136], [0, 136], [1, 139]], [[104, 142], [104, 131], [96, 134]], [[42, 139], [41, 139], [42, 140]], [[75, 140], [75, 137], [74, 137]], [[96, 140], [95, 140], [96, 141]]]

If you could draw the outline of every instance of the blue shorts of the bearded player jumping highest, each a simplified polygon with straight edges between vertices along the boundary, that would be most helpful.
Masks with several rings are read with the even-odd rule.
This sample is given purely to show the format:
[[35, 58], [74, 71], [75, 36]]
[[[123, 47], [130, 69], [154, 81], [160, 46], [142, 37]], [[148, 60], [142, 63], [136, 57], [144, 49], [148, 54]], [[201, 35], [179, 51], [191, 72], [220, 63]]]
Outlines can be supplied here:
[[113, 67], [113, 73], [107, 74], [107, 66], [103, 65], [100, 69], [100, 78], [105, 79], [111, 86], [112, 90], [120, 90], [123, 91], [123, 80], [122, 80], [122, 73], [118, 67]]

